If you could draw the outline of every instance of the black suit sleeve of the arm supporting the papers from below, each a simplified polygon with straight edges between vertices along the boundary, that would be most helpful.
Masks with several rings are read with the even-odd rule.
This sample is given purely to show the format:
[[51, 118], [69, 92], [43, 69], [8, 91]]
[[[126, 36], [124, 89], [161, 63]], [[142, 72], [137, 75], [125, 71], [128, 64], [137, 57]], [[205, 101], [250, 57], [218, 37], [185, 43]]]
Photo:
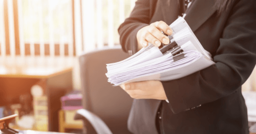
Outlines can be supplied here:
[[250, 76], [256, 64], [256, 2], [251, 1], [234, 4], [213, 57], [215, 65], [162, 82], [173, 113], [228, 96]]

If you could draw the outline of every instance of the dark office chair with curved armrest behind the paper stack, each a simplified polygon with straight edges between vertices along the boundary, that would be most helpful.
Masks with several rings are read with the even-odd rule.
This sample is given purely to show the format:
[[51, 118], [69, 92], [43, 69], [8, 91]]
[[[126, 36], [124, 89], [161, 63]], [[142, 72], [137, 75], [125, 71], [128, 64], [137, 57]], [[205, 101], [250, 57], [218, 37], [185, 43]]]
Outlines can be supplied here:
[[[108, 83], [105, 75], [107, 73], [107, 63], [115, 63], [126, 58], [128, 58], [128, 54], [123, 52], [121, 47], [95, 50], [79, 56], [84, 110], [80, 110], [80, 114], [78, 112], [76, 118], [85, 119], [81, 116], [81, 113], [87, 113], [89, 116], [98, 115], [96, 120], [100, 121], [102, 119], [102, 122], [106, 124], [106, 126], [98, 127], [103, 129], [109, 127], [109, 131], [97, 132], [95, 128], [97, 126], [88, 123], [89, 119], [87, 117], [84, 120], [84, 125], [87, 126], [88, 134], [96, 132], [98, 134], [111, 134], [108, 132], [130, 134], [127, 128], [127, 120], [133, 99], [121, 87], [113, 87], [112, 84]], [[88, 127], [88, 124], [91, 124], [94, 130]]]

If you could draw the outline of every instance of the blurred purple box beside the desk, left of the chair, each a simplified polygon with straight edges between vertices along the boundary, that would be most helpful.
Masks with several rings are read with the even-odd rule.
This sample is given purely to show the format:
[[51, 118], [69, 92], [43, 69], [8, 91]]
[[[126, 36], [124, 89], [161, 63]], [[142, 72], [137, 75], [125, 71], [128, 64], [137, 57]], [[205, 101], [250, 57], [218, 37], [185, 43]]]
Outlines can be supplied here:
[[80, 91], [72, 91], [70, 94], [61, 97], [62, 109], [75, 110], [82, 109], [82, 94]]

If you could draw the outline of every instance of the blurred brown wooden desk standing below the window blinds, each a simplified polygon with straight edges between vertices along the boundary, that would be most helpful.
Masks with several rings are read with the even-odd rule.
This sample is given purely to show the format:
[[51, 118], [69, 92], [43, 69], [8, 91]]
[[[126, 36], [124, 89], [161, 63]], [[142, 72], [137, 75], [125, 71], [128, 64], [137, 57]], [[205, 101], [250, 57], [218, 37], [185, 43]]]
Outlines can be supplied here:
[[[40, 80], [44, 80], [44, 95], [48, 104], [48, 130], [58, 131], [58, 111], [61, 109], [61, 96], [72, 89], [72, 66], [58, 64], [59, 61], [69, 63], [70, 58], [40, 57], [0, 58], [0, 85], [3, 94], [0, 94], [0, 106], [19, 103], [20, 94], [30, 93], [30, 88]], [[21, 60], [11, 62], [9, 60]], [[45, 64], [37, 64], [37, 61]], [[29, 63], [29, 65], [28, 65]], [[32, 65], [31, 65], [32, 64]]]

